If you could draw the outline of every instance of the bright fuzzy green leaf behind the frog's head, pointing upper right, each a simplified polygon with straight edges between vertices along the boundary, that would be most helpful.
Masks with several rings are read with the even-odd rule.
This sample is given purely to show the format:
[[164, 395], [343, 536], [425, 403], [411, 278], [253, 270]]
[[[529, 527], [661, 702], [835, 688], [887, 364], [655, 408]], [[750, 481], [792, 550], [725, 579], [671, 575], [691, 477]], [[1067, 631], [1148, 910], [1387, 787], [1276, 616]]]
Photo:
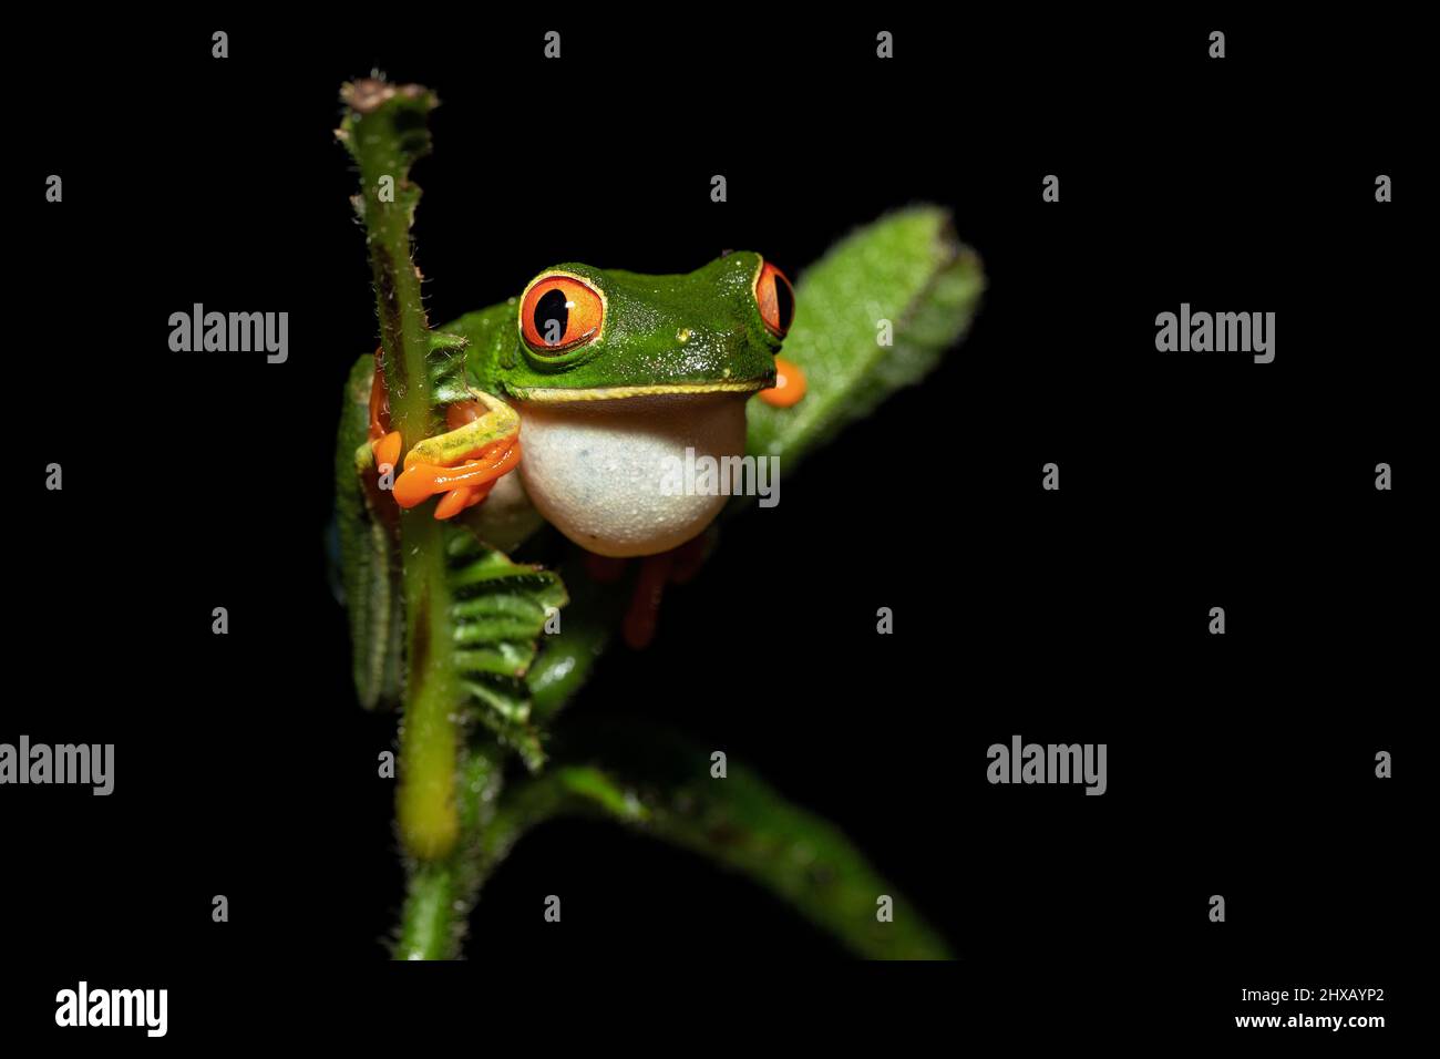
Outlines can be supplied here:
[[[950, 215], [912, 206], [832, 246], [795, 288], [780, 356], [805, 373], [789, 408], [752, 401], [747, 448], [793, 467], [901, 386], [919, 382], [969, 329], [985, 288], [981, 261], [956, 242]], [[881, 321], [893, 344], [881, 343]]]

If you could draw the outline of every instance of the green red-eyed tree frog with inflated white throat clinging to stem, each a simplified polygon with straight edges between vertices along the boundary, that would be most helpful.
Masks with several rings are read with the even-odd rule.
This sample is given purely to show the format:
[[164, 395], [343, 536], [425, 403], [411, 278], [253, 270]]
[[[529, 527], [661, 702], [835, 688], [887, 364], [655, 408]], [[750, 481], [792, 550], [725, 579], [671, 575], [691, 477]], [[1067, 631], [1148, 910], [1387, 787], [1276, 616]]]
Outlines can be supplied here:
[[[402, 438], [380, 352], [357, 362], [351, 379], [370, 379], [369, 422], [353, 464], [341, 461], [361, 483], [340, 483], [341, 529], [383, 553], [397, 509], [433, 501], [435, 519], [500, 550], [549, 523], [585, 550], [598, 581], [641, 559], [624, 633], [642, 647], [660, 585], [688, 579], [729, 500], [677, 490], [667, 471], [687, 452], [691, 467], [742, 457], [747, 402], [786, 406], [802, 395], [802, 372], [779, 356], [793, 316], [791, 281], [753, 251], [675, 275], [541, 269], [517, 295], [432, 331], [446, 429]], [[343, 419], [341, 450], [346, 429]]]

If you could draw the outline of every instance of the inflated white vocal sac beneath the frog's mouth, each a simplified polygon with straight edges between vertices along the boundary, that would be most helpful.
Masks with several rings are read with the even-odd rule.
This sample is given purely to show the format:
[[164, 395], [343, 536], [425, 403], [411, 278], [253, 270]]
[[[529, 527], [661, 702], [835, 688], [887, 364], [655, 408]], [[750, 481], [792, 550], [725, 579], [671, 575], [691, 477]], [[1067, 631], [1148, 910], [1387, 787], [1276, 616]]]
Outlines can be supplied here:
[[[615, 558], [685, 543], [727, 497], [677, 488], [693, 460], [744, 454], [749, 393], [652, 393], [520, 406], [520, 477], [564, 536]], [[693, 465], [693, 464], [691, 464]]]

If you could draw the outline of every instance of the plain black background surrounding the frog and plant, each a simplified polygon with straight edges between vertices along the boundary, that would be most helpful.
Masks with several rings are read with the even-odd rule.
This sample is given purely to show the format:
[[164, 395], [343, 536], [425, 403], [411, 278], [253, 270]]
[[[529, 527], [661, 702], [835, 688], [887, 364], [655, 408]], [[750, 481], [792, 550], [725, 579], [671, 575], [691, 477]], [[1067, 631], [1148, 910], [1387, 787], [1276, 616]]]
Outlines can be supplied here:
[[[1404, 997], [1433, 634], [1413, 36], [694, 16], [42, 20], [14, 42], [0, 738], [114, 742], [117, 787], [4, 790], [3, 949], [40, 968], [9, 1024], [50, 1024], [86, 975], [168, 986], [173, 1036], [229, 1019], [207, 984], [261, 961], [266, 1003], [298, 996], [297, 968], [307, 996], [379, 978], [393, 719], [354, 703], [324, 549], [340, 386], [376, 343], [331, 130], [372, 68], [442, 99], [415, 174], [436, 323], [566, 259], [667, 272], [750, 248], [795, 275], [919, 200], [985, 259], [971, 339], [729, 524], [654, 647], [608, 656], [569, 716], [677, 728], [829, 816], [953, 975], [1025, 1010], [1189, 1035], [1272, 1010], [1243, 986]], [[289, 362], [170, 353], [196, 301], [288, 311]], [[1274, 363], [1156, 353], [1182, 301], [1274, 311]], [[1014, 733], [1106, 742], [1109, 792], [991, 787], [985, 749]], [[844, 955], [743, 880], [583, 823], [527, 839], [472, 931], [477, 975]]]

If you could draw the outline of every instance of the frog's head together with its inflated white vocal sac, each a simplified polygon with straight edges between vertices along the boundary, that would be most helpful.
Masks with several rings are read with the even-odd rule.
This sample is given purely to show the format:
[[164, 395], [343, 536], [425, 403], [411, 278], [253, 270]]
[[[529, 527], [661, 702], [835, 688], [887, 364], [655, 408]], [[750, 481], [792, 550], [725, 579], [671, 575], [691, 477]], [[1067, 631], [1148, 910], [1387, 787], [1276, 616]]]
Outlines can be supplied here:
[[750, 252], [688, 275], [569, 264], [536, 277], [498, 363], [534, 506], [600, 555], [704, 530], [726, 497], [675, 490], [674, 471], [744, 454], [744, 403], [775, 385], [793, 310], [789, 281]]

